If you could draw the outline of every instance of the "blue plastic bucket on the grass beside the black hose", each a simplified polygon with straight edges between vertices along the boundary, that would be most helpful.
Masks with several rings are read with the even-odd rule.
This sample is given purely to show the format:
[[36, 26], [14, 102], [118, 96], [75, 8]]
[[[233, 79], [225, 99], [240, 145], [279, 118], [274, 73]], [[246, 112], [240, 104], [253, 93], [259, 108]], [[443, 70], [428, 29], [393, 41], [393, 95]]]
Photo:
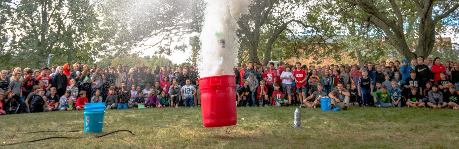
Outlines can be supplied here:
[[104, 124], [105, 103], [87, 103], [84, 107], [84, 133], [100, 133]]

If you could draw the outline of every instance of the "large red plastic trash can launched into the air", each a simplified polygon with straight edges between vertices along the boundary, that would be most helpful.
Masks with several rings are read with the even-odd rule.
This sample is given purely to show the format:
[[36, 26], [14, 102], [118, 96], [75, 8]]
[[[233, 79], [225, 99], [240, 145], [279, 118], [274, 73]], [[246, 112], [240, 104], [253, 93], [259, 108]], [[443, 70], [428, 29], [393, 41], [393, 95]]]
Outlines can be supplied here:
[[199, 78], [204, 127], [236, 125], [235, 75]]

